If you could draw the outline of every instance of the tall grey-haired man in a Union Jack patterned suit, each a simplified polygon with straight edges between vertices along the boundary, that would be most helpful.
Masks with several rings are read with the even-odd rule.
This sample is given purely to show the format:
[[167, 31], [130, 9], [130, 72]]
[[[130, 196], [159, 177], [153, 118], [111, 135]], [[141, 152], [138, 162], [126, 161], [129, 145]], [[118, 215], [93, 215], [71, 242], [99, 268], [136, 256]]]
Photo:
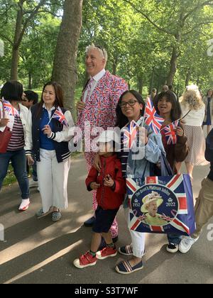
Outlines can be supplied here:
[[[94, 127], [111, 128], [116, 123], [116, 106], [119, 97], [128, 89], [128, 84], [121, 79], [111, 75], [105, 70], [107, 64], [107, 51], [99, 45], [89, 45], [86, 50], [86, 69], [90, 76], [86, 87], [82, 93], [82, 99], [77, 103], [79, 112], [77, 126], [84, 132], [85, 123], [89, 123], [91, 130]], [[94, 137], [91, 137], [91, 143]], [[92, 149], [91, 143], [86, 144], [87, 170], [91, 169], [96, 153]], [[89, 150], [88, 150], [89, 147]], [[88, 152], [89, 151], [89, 152]], [[93, 193], [93, 209], [97, 209], [96, 192]], [[85, 226], [92, 226], [94, 217], [84, 223]], [[117, 223], [111, 227], [112, 237], [118, 235]]]

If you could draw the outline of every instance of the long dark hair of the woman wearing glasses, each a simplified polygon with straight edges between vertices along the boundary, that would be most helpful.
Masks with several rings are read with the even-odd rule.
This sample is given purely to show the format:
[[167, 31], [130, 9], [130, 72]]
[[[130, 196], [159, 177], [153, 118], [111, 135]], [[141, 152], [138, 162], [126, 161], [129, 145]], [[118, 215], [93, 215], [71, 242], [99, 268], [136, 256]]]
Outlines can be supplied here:
[[145, 101], [143, 100], [143, 97], [141, 96], [141, 94], [135, 90], [125, 91], [123, 94], [121, 94], [118, 105], [116, 106], [116, 126], [118, 126], [119, 128], [123, 128], [124, 126], [126, 126], [127, 123], [129, 123], [128, 118], [122, 113], [121, 106], [120, 106], [124, 95], [126, 95], [128, 93], [131, 93], [137, 99], [139, 104], [143, 104], [143, 109], [141, 110], [141, 116], [143, 116], [144, 111], [145, 111], [146, 104], [145, 104]]

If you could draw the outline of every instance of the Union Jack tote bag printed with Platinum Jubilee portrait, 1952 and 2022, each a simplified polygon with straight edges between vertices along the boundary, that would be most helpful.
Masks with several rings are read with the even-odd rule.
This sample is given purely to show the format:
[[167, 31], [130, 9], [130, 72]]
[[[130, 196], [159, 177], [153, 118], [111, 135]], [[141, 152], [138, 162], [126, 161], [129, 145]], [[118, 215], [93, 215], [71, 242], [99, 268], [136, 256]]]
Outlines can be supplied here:
[[195, 209], [189, 175], [127, 178], [132, 210], [129, 228], [141, 233], [195, 232]]

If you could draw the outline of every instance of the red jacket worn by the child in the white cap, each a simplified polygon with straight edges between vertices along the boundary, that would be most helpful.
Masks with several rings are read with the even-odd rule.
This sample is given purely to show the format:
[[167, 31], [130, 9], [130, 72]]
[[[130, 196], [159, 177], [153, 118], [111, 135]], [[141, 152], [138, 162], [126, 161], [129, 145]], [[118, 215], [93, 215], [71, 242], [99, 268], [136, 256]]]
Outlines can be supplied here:
[[[97, 203], [102, 209], [119, 209], [126, 194], [126, 181], [122, 176], [121, 162], [116, 155], [110, 158], [101, 157], [102, 170], [98, 172], [94, 167], [89, 172], [86, 180], [87, 189], [91, 191], [90, 184], [97, 182], [101, 186], [97, 189]], [[107, 175], [115, 182], [115, 187], [107, 187], [104, 180]]]

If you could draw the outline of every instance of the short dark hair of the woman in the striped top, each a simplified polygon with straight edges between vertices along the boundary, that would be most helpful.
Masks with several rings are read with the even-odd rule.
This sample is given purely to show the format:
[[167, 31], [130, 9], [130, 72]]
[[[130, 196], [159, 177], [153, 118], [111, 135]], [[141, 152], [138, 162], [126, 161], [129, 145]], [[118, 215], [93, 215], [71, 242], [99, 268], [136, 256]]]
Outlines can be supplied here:
[[8, 81], [1, 88], [1, 98], [7, 101], [21, 101], [23, 95], [23, 86], [17, 81]]

